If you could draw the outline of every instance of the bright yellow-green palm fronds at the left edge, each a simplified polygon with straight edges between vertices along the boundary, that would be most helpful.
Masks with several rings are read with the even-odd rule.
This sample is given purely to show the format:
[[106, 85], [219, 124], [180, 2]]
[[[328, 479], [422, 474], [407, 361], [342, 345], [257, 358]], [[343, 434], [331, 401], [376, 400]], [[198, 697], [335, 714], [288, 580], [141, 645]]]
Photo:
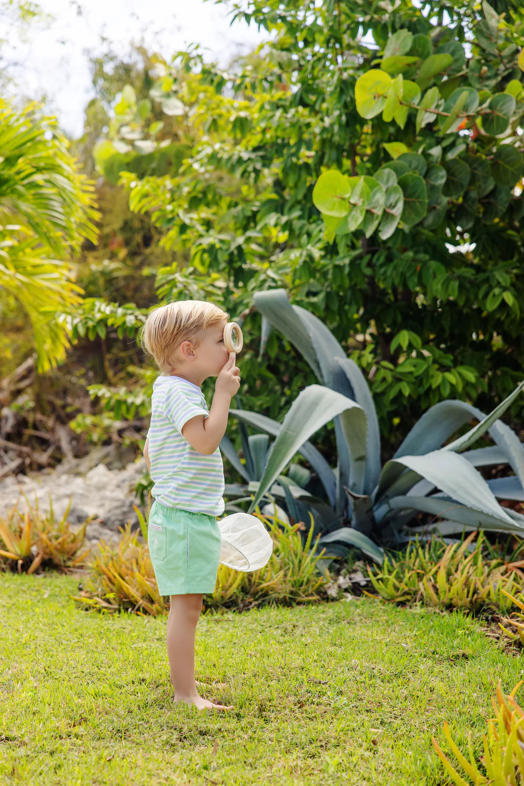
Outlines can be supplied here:
[[84, 238], [97, 240], [94, 204], [57, 120], [0, 98], [0, 296], [26, 311], [39, 371], [65, 357], [68, 333], [56, 315], [81, 300], [73, 259]]

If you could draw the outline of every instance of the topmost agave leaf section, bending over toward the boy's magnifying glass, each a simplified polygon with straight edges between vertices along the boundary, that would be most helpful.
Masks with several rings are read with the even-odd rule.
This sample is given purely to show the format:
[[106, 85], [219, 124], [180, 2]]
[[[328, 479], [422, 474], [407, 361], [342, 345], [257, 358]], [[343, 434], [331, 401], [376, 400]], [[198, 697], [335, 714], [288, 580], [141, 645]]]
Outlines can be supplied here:
[[300, 354], [306, 359], [321, 381], [321, 369], [317, 355], [313, 349], [310, 336], [302, 324], [302, 320], [291, 306], [285, 289], [269, 289], [267, 292], [255, 292], [255, 308], [260, 311], [270, 325], [284, 333]]

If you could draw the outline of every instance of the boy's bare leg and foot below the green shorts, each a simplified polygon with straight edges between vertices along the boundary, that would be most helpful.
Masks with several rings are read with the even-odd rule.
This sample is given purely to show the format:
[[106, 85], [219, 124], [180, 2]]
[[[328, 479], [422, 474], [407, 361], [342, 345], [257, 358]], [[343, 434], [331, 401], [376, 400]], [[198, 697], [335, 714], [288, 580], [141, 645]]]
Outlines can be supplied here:
[[202, 610], [202, 595], [171, 595], [167, 620], [167, 657], [174, 701], [199, 709], [229, 709], [199, 696], [195, 683], [195, 633]]

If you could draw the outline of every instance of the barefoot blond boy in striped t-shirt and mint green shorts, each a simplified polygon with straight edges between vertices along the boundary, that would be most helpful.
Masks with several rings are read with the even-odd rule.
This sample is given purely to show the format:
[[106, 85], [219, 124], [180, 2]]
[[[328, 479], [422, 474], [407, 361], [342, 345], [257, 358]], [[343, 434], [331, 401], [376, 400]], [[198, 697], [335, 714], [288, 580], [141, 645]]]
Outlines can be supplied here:
[[[229, 314], [202, 300], [168, 303], [148, 315], [142, 343], [163, 376], [153, 384], [152, 415], [144, 457], [155, 498], [148, 544], [161, 595], [170, 596], [167, 656], [174, 702], [229, 710], [199, 696], [195, 633], [203, 593], [217, 578], [224, 512], [224, 469], [218, 444], [229, 406], [240, 387], [235, 355], [225, 349]], [[200, 390], [216, 376], [211, 410]]]

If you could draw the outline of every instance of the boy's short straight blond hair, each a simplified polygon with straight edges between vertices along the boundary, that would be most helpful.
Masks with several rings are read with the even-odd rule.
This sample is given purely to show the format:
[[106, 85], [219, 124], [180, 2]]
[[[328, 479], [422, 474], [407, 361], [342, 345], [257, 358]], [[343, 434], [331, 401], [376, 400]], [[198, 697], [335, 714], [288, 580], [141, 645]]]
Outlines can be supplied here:
[[155, 358], [160, 371], [169, 373], [181, 343], [191, 341], [198, 346], [201, 332], [220, 325], [224, 319], [229, 319], [229, 314], [205, 300], [167, 303], [148, 314], [140, 332], [141, 344]]

